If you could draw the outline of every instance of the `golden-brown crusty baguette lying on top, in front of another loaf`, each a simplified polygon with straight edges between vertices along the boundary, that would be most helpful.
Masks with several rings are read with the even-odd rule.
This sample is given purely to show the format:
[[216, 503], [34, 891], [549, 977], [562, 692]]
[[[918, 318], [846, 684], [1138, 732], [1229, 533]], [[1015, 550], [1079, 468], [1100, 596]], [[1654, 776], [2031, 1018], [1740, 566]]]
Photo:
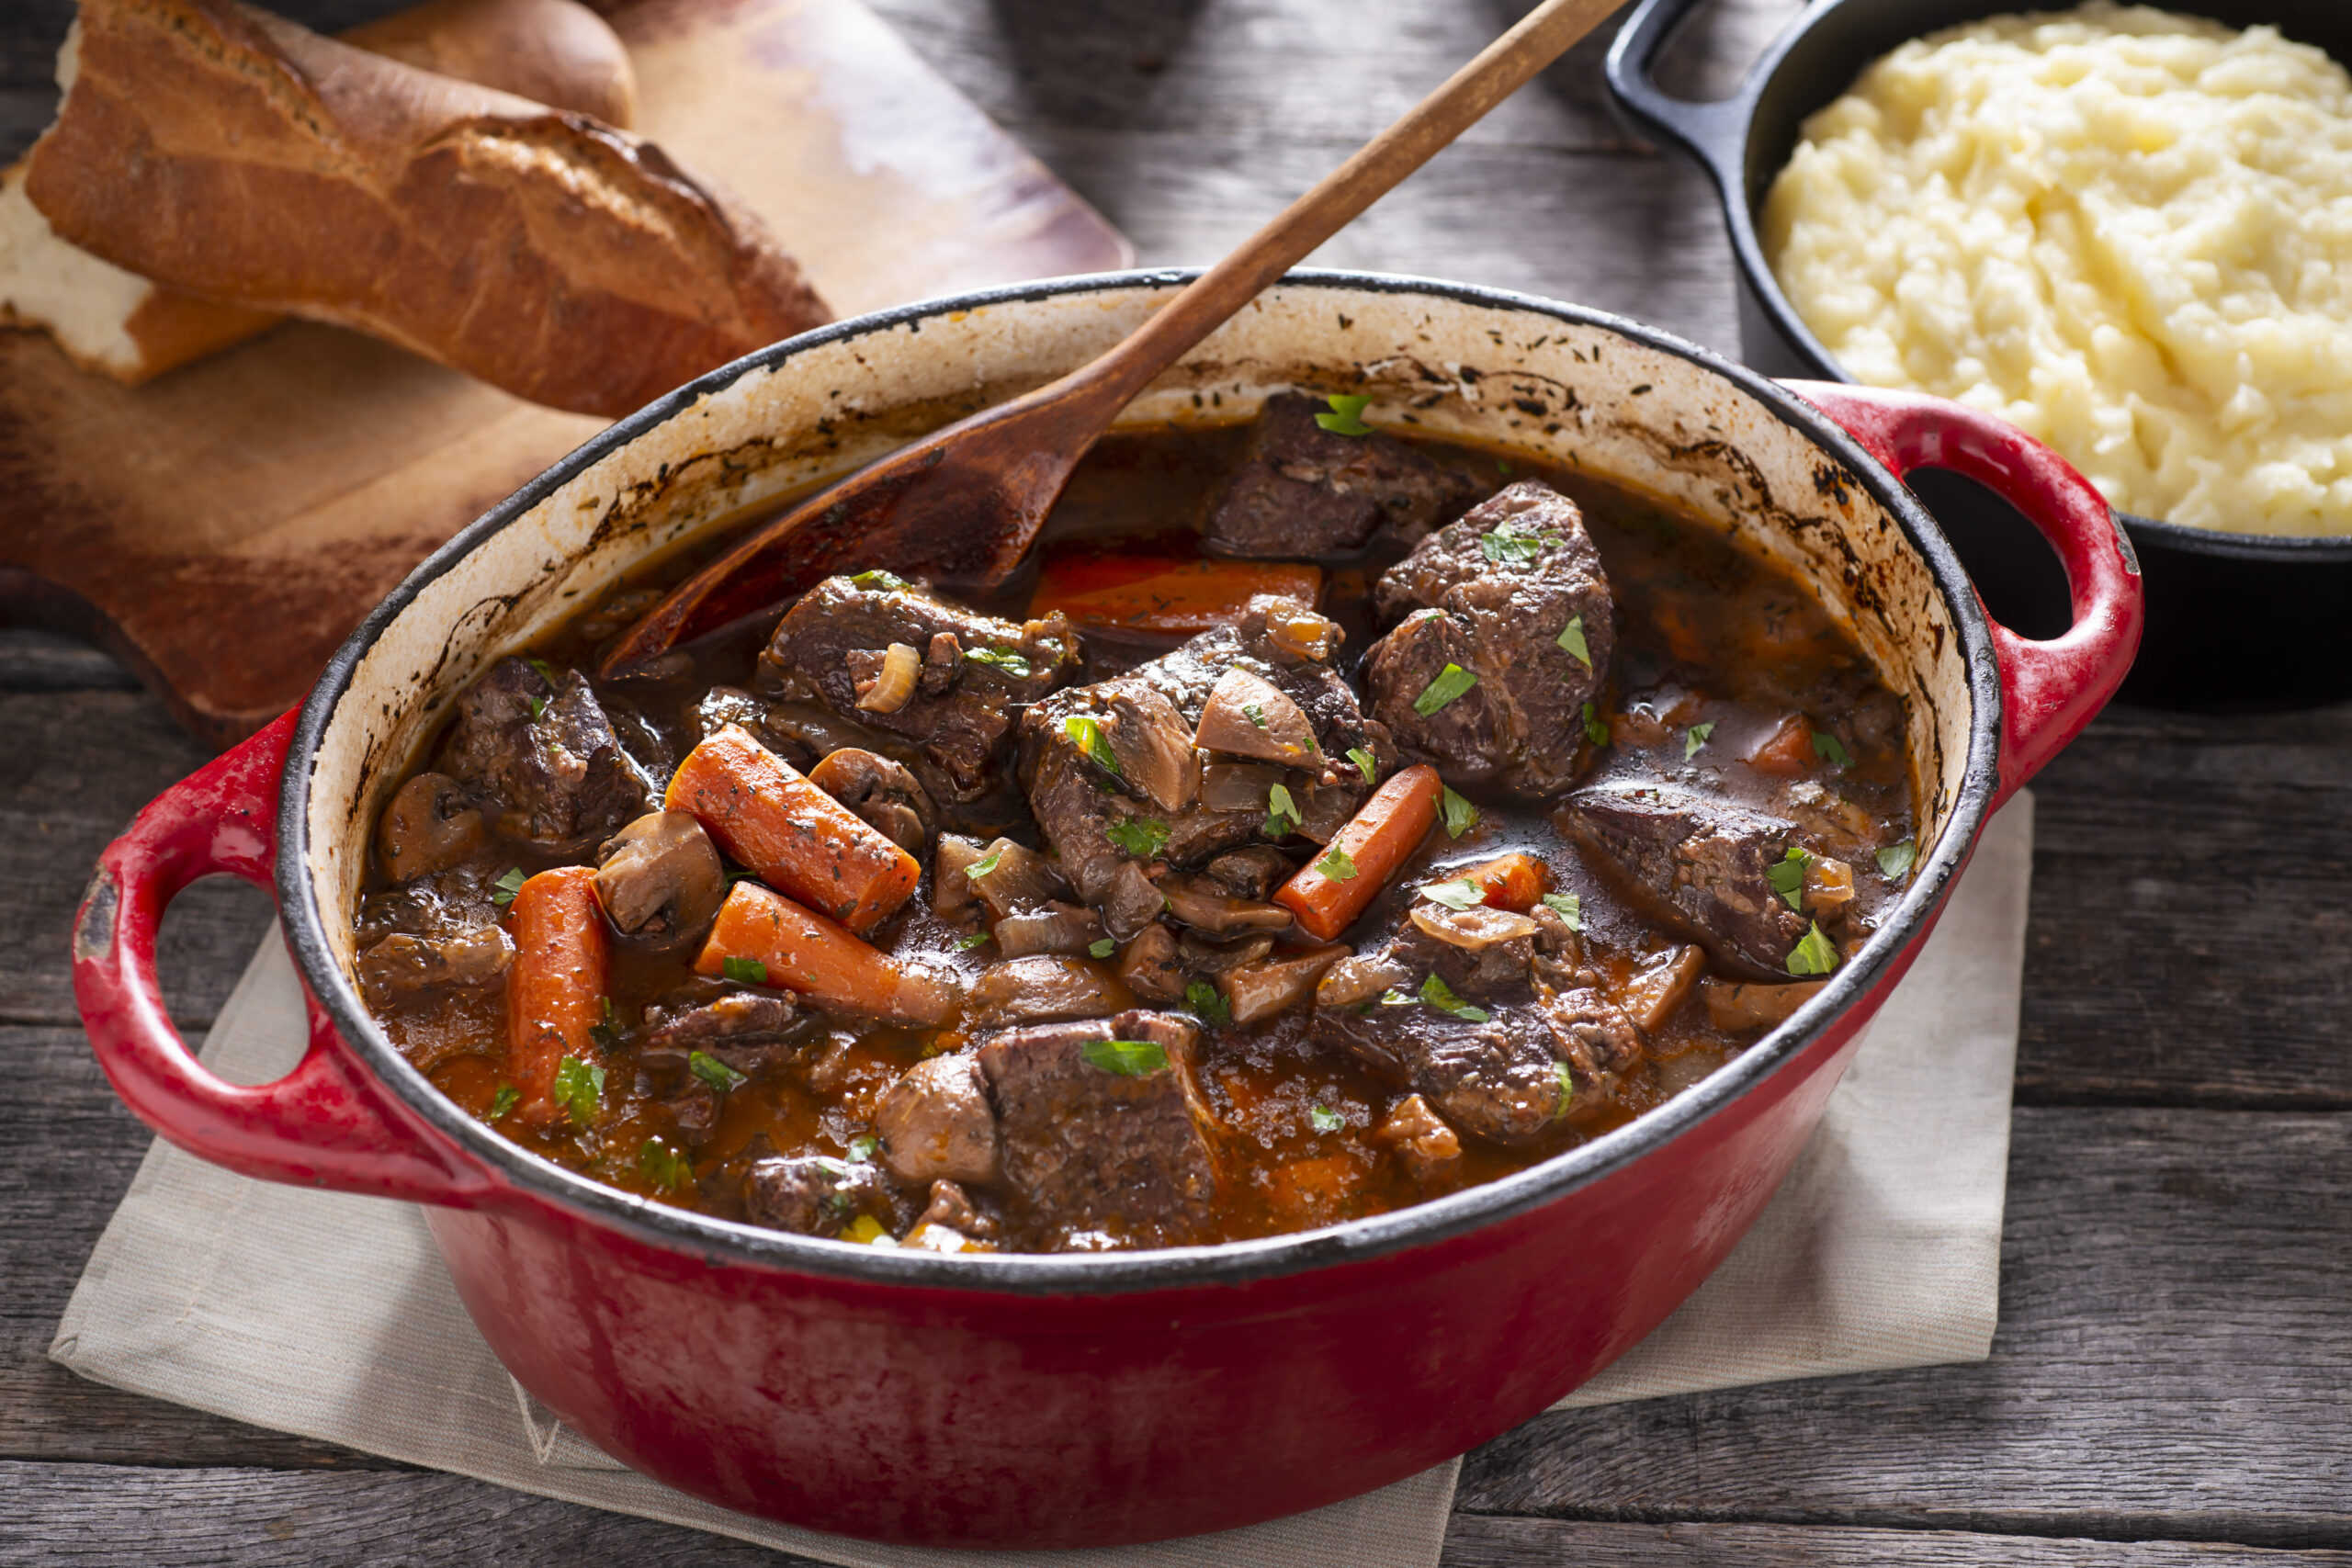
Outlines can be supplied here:
[[155, 282], [619, 416], [828, 320], [661, 148], [230, 0], [82, 0], [26, 195]]

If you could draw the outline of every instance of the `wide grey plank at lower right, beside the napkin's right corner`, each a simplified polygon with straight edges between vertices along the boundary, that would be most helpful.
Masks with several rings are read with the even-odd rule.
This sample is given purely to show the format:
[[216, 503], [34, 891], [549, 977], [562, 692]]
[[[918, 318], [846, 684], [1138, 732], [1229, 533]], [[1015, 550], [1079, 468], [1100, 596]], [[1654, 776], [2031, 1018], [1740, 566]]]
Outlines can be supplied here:
[[2020, 1110], [1983, 1366], [1545, 1415], [1456, 1507], [2352, 1547], [2352, 1117]]

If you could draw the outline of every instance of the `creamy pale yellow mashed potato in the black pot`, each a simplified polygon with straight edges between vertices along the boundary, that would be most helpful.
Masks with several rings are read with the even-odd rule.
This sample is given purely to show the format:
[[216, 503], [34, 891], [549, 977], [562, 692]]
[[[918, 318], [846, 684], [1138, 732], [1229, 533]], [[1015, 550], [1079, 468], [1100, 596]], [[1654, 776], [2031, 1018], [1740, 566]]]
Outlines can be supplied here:
[[1764, 202], [1856, 381], [1976, 404], [2119, 510], [2352, 534], [2352, 78], [2105, 0], [1870, 66]]

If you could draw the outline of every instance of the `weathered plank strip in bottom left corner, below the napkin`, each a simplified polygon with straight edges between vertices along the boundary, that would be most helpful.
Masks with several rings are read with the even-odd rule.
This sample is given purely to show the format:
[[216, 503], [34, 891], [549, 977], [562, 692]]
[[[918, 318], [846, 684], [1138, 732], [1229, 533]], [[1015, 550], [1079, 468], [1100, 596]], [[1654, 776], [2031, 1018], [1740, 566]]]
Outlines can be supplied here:
[[0, 1561], [52, 1568], [814, 1568], [680, 1526], [437, 1474], [0, 1465]]

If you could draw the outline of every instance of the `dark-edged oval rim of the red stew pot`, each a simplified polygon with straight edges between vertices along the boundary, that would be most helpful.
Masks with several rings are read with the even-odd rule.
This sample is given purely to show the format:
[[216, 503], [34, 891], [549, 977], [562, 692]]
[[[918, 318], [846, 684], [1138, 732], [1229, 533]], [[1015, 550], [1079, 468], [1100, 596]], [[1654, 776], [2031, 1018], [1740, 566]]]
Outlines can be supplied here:
[[[1552, 1204], [1590, 1182], [1632, 1166], [1646, 1154], [1665, 1147], [1686, 1131], [1719, 1114], [1745, 1093], [1771, 1079], [1776, 1072], [1804, 1058], [1839, 1018], [1875, 987], [1889, 983], [1893, 971], [1924, 940], [1926, 926], [1952, 882], [1969, 860], [1997, 790], [1997, 752], [2002, 729], [2002, 691], [1994, 665], [1992, 637], [1969, 588], [1959, 562], [1924, 508], [1879, 468], [1853, 437], [1837, 428], [1811, 404], [1785, 388], [1764, 381], [1755, 371], [1731, 364], [1693, 343], [1642, 327], [1616, 315], [1564, 306], [1526, 294], [1479, 289], [1470, 284], [1395, 277], [1376, 273], [1291, 273], [1279, 287], [1329, 289], [1345, 294], [1428, 296], [1470, 308], [1498, 313], [1550, 317], [1562, 324], [1585, 327], [1628, 339], [1653, 353], [1684, 360], [1700, 371], [1731, 383], [1738, 393], [1771, 411], [1780, 423], [1795, 428], [1811, 442], [1825, 463], [1816, 470], [1816, 482], [1830, 487], [1851, 484], [1877, 501], [1903, 541], [1924, 559], [1943, 597], [1952, 635], [1966, 663], [1969, 729], [1966, 759], [1957, 769], [1957, 785], [1950, 802], [1938, 811], [1943, 825], [1929, 853], [1922, 856], [1912, 886], [1886, 924], [1830, 978], [1830, 983], [1788, 1025], [1750, 1046], [1743, 1056], [1700, 1084], [1682, 1091], [1658, 1110], [1616, 1128], [1588, 1145], [1557, 1154], [1538, 1166], [1505, 1175], [1465, 1192], [1456, 1192], [1414, 1208], [1385, 1215], [1348, 1220], [1310, 1232], [1265, 1237], [1256, 1241], [1225, 1241], [1218, 1246], [1136, 1251], [1136, 1253], [990, 1253], [990, 1255], [938, 1255], [913, 1248], [877, 1248], [847, 1241], [818, 1241], [786, 1232], [760, 1229], [729, 1220], [715, 1220], [684, 1208], [670, 1208], [652, 1199], [640, 1199], [614, 1187], [604, 1187], [586, 1175], [567, 1171], [548, 1159], [529, 1154], [482, 1126], [456, 1103], [447, 1100], [433, 1084], [390, 1044], [383, 1030], [367, 1013], [355, 987], [341, 973], [327, 940], [327, 914], [320, 907], [310, 877], [310, 816], [308, 785], [313, 759], [336, 715], [336, 705], [350, 691], [353, 675], [395, 616], [400, 616], [419, 592], [482, 541], [499, 534], [567, 480], [581, 475], [600, 458], [659, 428], [673, 416], [691, 409], [701, 397], [717, 393], [746, 374], [779, 367], [800, 353], [828, 343], [854, 341], [894, 329], [915, 329], [929, 320], [974, 308], [1002, 308], [1035, 301], [1051, 301], [1077, 294], [1117, 294], [1131, 289], [1171, 289], [1190, 280], [1192, 273], [1143, 270], [1110, 273], [1094, 277], [1068, 277], [1009, 289], [990, 289], [955, 299], [924, 301], [884, 310], [816, 331], [736, 360], [708, 376], [670, 393], [647, 409], [623, 418], [600, 433], [548, 473], [532, 480], [508, 501], [485, 512], [459, 531], [447, 545], [435, 550], [409, 578], [379, 604], [367, 621], [343, 642], [327, 670], [320, 675], [301, 708], [292, 748], [287, 755], [285, 785], [280, 792], [278, 832], [278, 903], [285, 914], [287, 943], [303, 969], [313, 992], [334, 1020], [346, 1046], [390, 1088], [423, 1124], [440, 1133], [461, 1159], [475, 1161], [496, 1173], [494, 1180], [510, 1185], [524, 1201], [536, 1199], [593, 1225], [612, 1225], [626, 1234], [715, 1267], [774, 1267], [833, 1279], [870, 1281], [877, 1286], [924, 1286], [946, 1291], [1021, 1293], [1021, 1295], [1108, 1295], [1157, 1288], [1190, 1286], [1242, 1286], [1256, 1279], [1298, 1274], [1348, 1262], [1364, 1262], [1404, 1248], [1439, 1244], [1465, 1232], [1475, 1232], [1534, 1208]], [[1343, 303], [1343, 299], [1338, 301]], [[1538, 407], [1543, 407], [1538, 402]], [[1851, 581], [1849, 592], [1858, 588]], [[487, 1204], [496, 1208], [503, 1197]]]

